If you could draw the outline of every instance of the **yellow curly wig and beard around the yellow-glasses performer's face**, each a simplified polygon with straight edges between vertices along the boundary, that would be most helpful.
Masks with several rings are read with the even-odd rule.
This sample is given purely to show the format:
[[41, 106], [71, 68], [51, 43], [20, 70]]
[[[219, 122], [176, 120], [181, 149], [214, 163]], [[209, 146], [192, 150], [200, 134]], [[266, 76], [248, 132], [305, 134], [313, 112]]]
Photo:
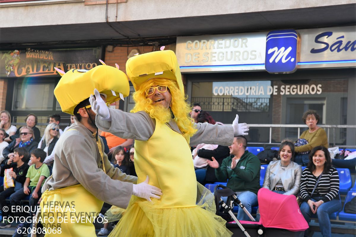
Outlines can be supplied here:
[[168, 123], [169, 120], [171, 120], [171, 113], [168, 109], [161, 106], [154, 106], [152, 100], [146, 98], [146, 89], [153, 85], [168, 87], [172, 95], [171, 109], [174, 113], [174, 121], [176, 121], [183, 133], [193, 136], [193, 134], [197, 132], [197, 129], [194, 127], [194, 120], [188, 115], [192, 106], [190, 103], [185, 102], [188, 96], [182, 95], [175, 81], [155, 78], [142, 83], [140, 88], [132, 95], [135, 101], [135, 107], [132, 108], [131, 113], [145, 111], [151, 118], [162, 123]]

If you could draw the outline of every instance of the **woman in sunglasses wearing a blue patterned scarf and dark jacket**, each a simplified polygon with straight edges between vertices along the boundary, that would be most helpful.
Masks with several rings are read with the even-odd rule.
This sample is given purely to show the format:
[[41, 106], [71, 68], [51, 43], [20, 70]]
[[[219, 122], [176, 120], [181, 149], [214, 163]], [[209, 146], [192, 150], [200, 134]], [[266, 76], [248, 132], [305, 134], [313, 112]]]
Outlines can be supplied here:
[[[13, 158], [14, 150], [17, 147], [24, 147], [31, 154], [37, 146], [38, 142], [35, 141], [35, 135], [33, 134], [32, 128], [29, 126], [23, 126], [20, 128], [20, 138], [16, 138], [2, 151], [2, 155], [5, 157], [5, 160], [1, 163], [6, 164], [9, 158]], [[24, 157], [23, 162], [27, 163], [29, 160], [30, 157]]]

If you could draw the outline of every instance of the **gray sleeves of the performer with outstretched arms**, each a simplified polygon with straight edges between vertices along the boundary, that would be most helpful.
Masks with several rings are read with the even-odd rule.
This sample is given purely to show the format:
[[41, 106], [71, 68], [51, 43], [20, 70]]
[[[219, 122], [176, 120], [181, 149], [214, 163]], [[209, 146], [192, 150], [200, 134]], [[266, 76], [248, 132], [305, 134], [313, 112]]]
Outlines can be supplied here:
[[[112, 133], [120, 138], [146, 141], [151, 138], [156, 128], [156, 121], [146, 112], [127, 113], [118, 109], [109, 109], [111, 121], [101, 120], [96, 116], [96, 125], [100, 130]], [[179, 131], [174, 120], [169, 122], [174, 129]], [[234, 140], [234, 128], [219, 124], [197, 123], [197, 133], [190, 136], [190, 146], [200, 143], [230, 146]], [[169, 138], [167, 138], [169, 139]]]

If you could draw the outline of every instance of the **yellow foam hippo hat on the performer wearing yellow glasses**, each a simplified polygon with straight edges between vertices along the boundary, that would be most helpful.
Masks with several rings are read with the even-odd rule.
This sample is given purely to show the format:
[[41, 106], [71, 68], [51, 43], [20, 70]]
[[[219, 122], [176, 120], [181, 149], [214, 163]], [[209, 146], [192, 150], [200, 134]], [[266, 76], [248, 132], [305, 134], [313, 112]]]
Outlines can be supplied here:
[[176, 54], [172, 50], [155, 51], [129, 58], [126, 73], [135, 91], [141, 84], [153, 78], [177, 81], [179, 90], [184, 94], [182, 75], [180, 74]]

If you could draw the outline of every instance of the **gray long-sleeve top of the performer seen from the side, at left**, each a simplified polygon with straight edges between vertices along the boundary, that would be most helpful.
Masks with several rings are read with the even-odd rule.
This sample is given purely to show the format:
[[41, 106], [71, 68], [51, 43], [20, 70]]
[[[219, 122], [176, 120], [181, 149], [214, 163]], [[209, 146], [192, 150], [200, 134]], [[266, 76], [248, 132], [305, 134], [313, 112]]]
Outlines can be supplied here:
[[57, 141], [53, 175], [46, 180], [42, 192], [80, 183], [96, 198], [126, 208], [132, 195], [132, 183], [137, 182], [137, 177], [126, 175], [120, 169], [114, 168], [104, 153], [103, 141], [100, 137], [99, 139], [106, 174], [103, 172], [94, 136], [89, 129], [75, 120], [75, 124]]

